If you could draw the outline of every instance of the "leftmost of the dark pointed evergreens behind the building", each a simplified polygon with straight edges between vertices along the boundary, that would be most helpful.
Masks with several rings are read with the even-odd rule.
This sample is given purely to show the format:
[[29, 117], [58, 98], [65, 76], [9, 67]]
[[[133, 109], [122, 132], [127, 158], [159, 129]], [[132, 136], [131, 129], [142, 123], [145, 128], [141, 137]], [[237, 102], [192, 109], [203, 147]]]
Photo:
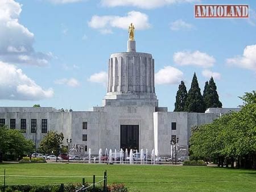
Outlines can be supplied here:
[[176, 94], [176, 102], [174, 111], [185, 111], [185, 102], [187, 101], [187, 88], [183, 81], [180, 82], [179, 89]]

